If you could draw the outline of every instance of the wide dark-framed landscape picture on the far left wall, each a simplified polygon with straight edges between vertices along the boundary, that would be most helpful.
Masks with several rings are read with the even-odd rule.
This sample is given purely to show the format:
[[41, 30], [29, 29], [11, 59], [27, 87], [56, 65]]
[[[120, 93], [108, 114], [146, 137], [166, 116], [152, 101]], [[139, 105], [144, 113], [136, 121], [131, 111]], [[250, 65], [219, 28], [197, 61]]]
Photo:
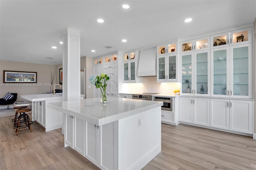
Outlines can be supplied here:
[[4, 83], [37, 83], [37, 72], [4, 70]]

